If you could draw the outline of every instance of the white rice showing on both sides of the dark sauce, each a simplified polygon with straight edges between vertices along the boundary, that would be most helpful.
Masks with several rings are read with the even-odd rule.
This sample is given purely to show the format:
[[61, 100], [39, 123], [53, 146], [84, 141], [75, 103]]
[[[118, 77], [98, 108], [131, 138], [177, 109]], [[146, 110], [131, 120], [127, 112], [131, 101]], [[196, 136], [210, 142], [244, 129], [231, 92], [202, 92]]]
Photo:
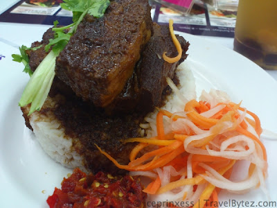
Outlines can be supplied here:
[[[184, 110], [186, 101], [196, 98], [195, 93], [195, 78], [193, 72], [186, 68], [186, 63], [182, 63], [176, 70], [177, 77], [179, 78], [180, 85], [178, 90], [172, 90], [172, 94], [166, 97], [166, 105], [162, 109], [170, 112], [178, 112]], [[42, 146], [43, 150], [52, 157], [55, 162], [69, 167], [79, 167], [84, 170], [86, 164], [82, 155], [78, 154], [78, 147], [80, 141], [78, 138], [69, 137], [66, 135], [65, 128], [62, 123], [57, 120], [53, 109], [55, 109], [57, 102], [62, 96], [55, 96], [51, 98], [48, 96], [39, 112], [33, 112], [28, 116], [30, 126], [37, 141]], [[24, 116], [28, 114], [29, 105], [21, 107]], [[141, 124], [141, 134], [146, 137], [157, 135], [156, 131], [156, 115], [158, 110], [149, 113], [145, 116], [145, 123]]]

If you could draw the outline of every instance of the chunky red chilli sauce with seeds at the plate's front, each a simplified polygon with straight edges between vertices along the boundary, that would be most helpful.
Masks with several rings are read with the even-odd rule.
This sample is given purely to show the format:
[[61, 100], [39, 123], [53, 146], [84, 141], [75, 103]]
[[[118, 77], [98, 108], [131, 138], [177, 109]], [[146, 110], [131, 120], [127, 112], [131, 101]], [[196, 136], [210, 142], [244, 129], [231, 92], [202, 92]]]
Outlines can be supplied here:
[[50, 208], [58, 207], [145, 207], [146, 193], [138, 177], [114, 177], [99, 172], [86, 174], [75, 168], [62, 181], [62, 188], [49, 196]]

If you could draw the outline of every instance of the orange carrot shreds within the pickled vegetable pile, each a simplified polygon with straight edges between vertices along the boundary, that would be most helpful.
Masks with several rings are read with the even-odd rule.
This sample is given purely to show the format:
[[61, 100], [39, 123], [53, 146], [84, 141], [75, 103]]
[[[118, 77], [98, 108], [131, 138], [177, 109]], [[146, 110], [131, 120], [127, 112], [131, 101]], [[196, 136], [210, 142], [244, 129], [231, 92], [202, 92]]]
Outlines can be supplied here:
[[[116, 159], [111, 157], [111, 155], [105, 153], [105, 151], [101, 150], [98, 146], [96, 147], [100, 150], [100, 153], [110, 159], [111, 162], [113, 162], [118, 168], [122, 168], [127, 171], [151, 171], [152, 173], [166, 171], [163, 174], [167, 176], [163, 176], [163, 174], [159, 173], [156, 174], [157, 176], [155, 175], [151, 178], [152, 182], [150, 182], [150, 184], [148, 184], [148, 186], [143, 190], [145, 193], [155, 195], [166, 193], [168, 191], [172, 191], [171, 193], [174, 193], [173, 191], [183, 189], [183, 187], [188, 187], [189, 189], [187, 190], [190, 192], [186, 191], [182, 196], [183, 200], [188, 200], [191, 196], [193, 196], [193, 193], [198, 189], [198, 187], [201, 188], [202, 184], [204, 184], [204, 191], [202, 191], [199, 196], [199, 200], [197, 200], [194, 207], [215, 207], [214, 203], [208, 205], [205, 204], [205, 202], [208, 199], [213, 202], [218, 202], [217, 194], [221, 189], [204, 180], [205, 175], [208, 175], [208, 170], [205, 167], [209, 166], [226, 179], [229, 179], [233, 171], [233, 166], [237, 160], [224, 157], [224, 154], [220, 157], [206, 154], [202, 155], [203, 150], [208, 152], [206, 148], [207, 146], [211, 150], [218, 150], [218, 152], [220, 152], [222, 142], [238, 135], [245, 135], [255, 142], [257, 150], [258, 146], [260, 146], [262, 149], [263, 159], [267, 162], [267, 152], [265, 146], [259, 138], [262, 128], [260, 127], [260, 119], [258, 119], [258, 116], [253, 114], [253, 112], [249, 112], [248, 110], [240, 107], [241, 103], [217, 103], [216, 106], [218, 105], [224, 105], [224, 107], [218, 110], [218, 112], [210, 118], [206, 118], [201, 115], [203, 112], [211, 110], [211, 105], [204, 101], [197, 102], [196, 100], [192, 100], [186, 103], [184, 108], [186, 116], [178, 116], [166, 110], [159, 110], [156, 117], [156, 137], [148, 139], [130, 138], [123, 141], [123, 143], [139, 142], [139, 144], [136, 145], [131, 151], [129, 155], [130, 162], [127, 165], [119, 164]], [[245, 117], [244, 120], [240, 121], [239, 119], [242, 116], [241, 111], [249, 114], [253, 117], [253, 120]], [[191, 127], [188, 125], [186, 128], [190, 128], [189, 131], [177, 130], [174, 132], [172, 130], [172, 132], [166, 134], [166, 123], [163, 123], [163, 116], [167, 116], [170, 118], [170, 121], [176, 122], [178, 122], [177, 120], [180, 118], [188, 119], [190, 123], [193, 122], [196, 126]], [[249, 125], [253, 126], [258, 136], [249, 132]], [[203, 132], [205, 135], [199, 135], [200, 137], [198, 137], [196, 132], [201, 132], [200, 134]], [[224, 132], [226, 132], [226, 134]], [[193, 138], [194, 140], [190, 141], [190, 143], [186, 145], [199, 150], [197, 154], [192, 154], [189, 152], [190, 150], [188, 150], [188, 152], [185, 150], [186, 145], [184, 143], [186, 143], [186, 139], [190, 138]], [[141, 153], [143, 148], [149, 145], [153, 145], [156, 148], [148, 150], [145, 153]], [[228, 148], [233, 148], [235, 145], [231, 144]], [[244, 146], [240, 147], [244, 148]], [[245, 150], [248, 149], [249, 146], [245, 146]], [[157, 171], [157, 168], [159, 168], [159, 171]], [[250, 164], [248, 170], [249, 177], [253, 175], [256, 168], [256, 164]], [[267, 173], [267, 166], [265, 166], [263, 171], [265, 175], [265, 173]], [[164, 181], [167, 183], [161, 186], [161, 182]]]

